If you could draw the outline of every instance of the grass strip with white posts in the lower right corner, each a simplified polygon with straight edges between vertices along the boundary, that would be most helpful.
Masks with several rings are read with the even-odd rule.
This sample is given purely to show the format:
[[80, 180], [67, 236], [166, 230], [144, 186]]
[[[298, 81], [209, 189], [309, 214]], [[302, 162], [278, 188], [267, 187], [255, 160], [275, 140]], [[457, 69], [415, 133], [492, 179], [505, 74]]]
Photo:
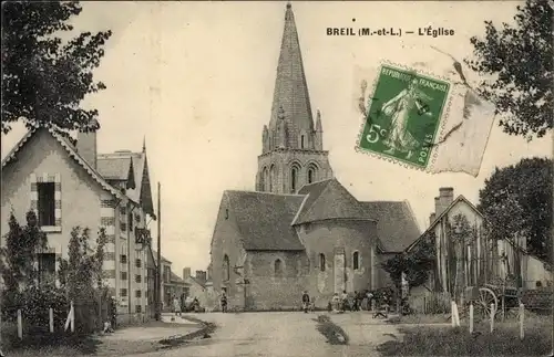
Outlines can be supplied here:
[[530, 316], [525, 319], [524, 339], [520, 340], [516, 321], [474, 325], [470, 334], [468, 322], [460, 327], [401, 327], [402, 340], [378, 346], [383, 356], [548, 356], [553, 350], [552, 316]]

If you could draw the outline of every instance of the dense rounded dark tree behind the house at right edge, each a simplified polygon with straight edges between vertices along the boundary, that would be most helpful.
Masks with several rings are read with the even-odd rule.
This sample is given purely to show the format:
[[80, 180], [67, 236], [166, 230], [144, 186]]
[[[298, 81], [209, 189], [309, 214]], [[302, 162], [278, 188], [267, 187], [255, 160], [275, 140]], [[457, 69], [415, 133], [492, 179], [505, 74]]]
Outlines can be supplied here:
[[553, 161], [525, 158], [496, 168], [480, 190], [478, 209], [485, 217], [490, 238], [526, 240], [527, 251], [551, 261]]

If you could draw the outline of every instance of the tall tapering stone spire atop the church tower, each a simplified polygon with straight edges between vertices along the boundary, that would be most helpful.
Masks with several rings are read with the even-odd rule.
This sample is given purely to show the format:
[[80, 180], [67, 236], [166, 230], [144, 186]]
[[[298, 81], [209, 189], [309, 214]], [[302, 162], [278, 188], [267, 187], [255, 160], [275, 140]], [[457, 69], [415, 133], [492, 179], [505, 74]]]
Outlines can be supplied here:
[[299, 148], [301, 133], [314, 132], [314, 119], [295, 14], [290, 3], [287, 3], [285, 11], [285, 29], [277, 64], [269, 130], [278, 130], [281, 113], [285, 113], [284, 119], [289, 129], [290, 146]]

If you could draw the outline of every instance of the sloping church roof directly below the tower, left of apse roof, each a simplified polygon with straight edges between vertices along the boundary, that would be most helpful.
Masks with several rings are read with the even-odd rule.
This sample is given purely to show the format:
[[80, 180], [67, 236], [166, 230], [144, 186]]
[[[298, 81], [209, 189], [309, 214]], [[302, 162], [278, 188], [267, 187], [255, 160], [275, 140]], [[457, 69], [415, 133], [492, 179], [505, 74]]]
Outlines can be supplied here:
[[304, 196], [225, 191], [245, 250], [304, 250], [290, 222]]

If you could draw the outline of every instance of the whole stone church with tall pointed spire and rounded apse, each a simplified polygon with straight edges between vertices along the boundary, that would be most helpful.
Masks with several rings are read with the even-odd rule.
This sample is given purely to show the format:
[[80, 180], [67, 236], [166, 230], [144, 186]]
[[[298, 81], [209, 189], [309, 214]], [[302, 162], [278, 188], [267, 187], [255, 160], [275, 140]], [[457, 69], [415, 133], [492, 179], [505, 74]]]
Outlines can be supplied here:
[[229, 309], [298, 308], [302, 291], [326, 307], [334, 293], [386, 286], [380, 262], [420, 235], [408, 202], [361, 202], [348, 192], [322, 134], [287, 4], [256, 190], [223, 193], [212, 238], [208, 276]]

